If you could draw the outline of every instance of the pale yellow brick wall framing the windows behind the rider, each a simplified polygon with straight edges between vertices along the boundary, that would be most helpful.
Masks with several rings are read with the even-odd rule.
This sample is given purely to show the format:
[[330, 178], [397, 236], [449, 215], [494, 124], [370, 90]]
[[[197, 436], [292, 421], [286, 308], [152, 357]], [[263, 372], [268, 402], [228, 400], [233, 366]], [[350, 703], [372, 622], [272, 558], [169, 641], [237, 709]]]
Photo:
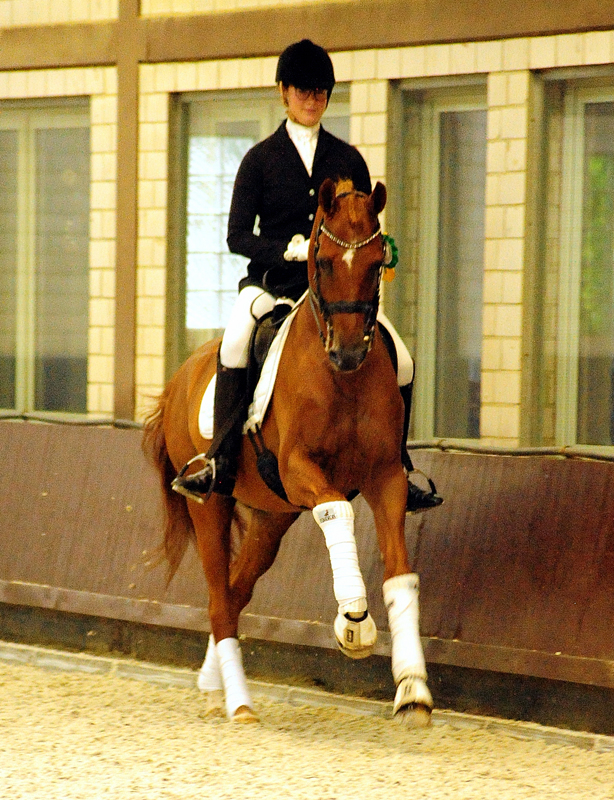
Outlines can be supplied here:
[[[322, 0], [313, 0], [320, 2]], [[206, 13], [275, 5], [257, 0], [143, 0], [141, 13]], [[280, 4], [281, 5], [281, 4]], [[299, 3], [295, 3], [299, 5]], [[0, 26], [112, 19], [118, 0], [70, 3], [0, 0]], [[482, 75], [488, 86], [486, 238], [483, 308], [482, 438], [517, 445], [521, 437], [523, 291], [533, 258], [527, 247], [534, 70], [611, 64], [614, 33], [517, 38], [334, 53], [337, 78], [351, 85], [351, 140], [365, 156], [374, 179], [386, 180], [388, 82], [406, 78]], [[137, 415], [164, 383], [169, 95], [271, 86], [276, 58], [197, 63], [144, 64], [140, 69]], [[116, 178], [116, 76], [113, 68], [32, 70], [0, 73], [0, 99], [91, 98], [92, 210], [88, 409], [113, 408], [114, 263]], [[556, 121], [549, 138], [556, 142]], [[554, 126], [554, 127], [553, 127]], [[550, 187], [551, 194], [555, 187]], [[410, 199], [411, 202], [411, 199]], [[556, 206], [554, 207], [556, 208]], [[549, 274], [555, 271], [556, 214], [547, 225]], [[550, 243], [553, 243], [551, 249]], [[416, 253], [410, 254], [415, 262]], [[415, 283], [411, 283], [415, 290]], [[553, 292], [556, 291], [554, 288]], [[411, 302], [411, 298], [408, 298]], [[556, 337], [556, 297], [545, 313], [546, 336]], [[410, 332], [406, 332], [406, 335]], [[409, 342], [412, 347], [414, 342]], [[552, 363], [548, 367], [554, 375]], [[549, 380], [549, 379], [548, 379]], [[548, 383], [547, 380], [547, 383]], [[553, 377], [552, 377], [553, 380]], [[550, 380], [549, 385], [551, 386]], [[553, 391], [548, 394], [546, 433], [554, 425]], [[550, 415], [548, 417], [548, 414]]]

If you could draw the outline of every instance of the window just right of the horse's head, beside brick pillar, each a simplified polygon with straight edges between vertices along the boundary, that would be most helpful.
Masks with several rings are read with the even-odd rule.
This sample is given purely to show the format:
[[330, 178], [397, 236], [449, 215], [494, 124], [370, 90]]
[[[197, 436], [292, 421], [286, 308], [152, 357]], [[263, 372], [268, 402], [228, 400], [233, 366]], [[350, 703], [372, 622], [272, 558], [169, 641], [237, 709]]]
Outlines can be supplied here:
[[479, 438], [485, 96], [402, 95], [401, 281], [390, 314], [416, 359], [413, 435]]

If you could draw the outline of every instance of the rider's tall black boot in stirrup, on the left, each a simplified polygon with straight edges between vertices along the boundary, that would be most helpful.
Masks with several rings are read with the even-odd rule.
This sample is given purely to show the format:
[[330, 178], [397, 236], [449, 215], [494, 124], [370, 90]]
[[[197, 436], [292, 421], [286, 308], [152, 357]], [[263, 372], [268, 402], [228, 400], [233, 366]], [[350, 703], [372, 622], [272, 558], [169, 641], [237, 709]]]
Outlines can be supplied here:
[[[180, 494], [201, 500], [211, 492], [231, 496], [237, 477], [237, 458], [241, 449], [245, 420], [247, 370], [225, 367], [217, 361], [217, 378], [213, 401], [213, 441], [207, 453], [197, 456], [205, 466], [183, 477], [190, 463], [173, 481]], [[196, 460], [196, 459], [194, 459]]]

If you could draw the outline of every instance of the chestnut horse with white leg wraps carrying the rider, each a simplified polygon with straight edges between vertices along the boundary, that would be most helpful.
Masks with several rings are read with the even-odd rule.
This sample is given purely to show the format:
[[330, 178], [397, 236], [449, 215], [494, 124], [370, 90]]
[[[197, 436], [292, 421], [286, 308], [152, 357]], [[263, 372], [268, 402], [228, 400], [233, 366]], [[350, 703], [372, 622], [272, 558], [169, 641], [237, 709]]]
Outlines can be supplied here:
[[[276, 458], [283, 491], [273, 491], [260, 476], [257, 448], [247, 435], [232, 497], [213, 493], [195, 502], [172, 490], [179, 470], [210, 444], [199, 431], [198, 416], [215, 374], [217, 340], [179, 368], [144, 424], [143, 448], [159, 472], [166, 509], [162, 549], [168, 579], [193, 540], [208, 584], [211, 634], [198, 686], [210, 698], [223, 698], [232, 721], [258, 720], [241, 662], [239, 614], [273, 564], [282, 537], [304, 511], [313, 514], [328, 547], [337, 642], [353, 658], [372, 652], [377, 631], [367, 609], [349, 502], [360, 493], [373, 512], [384, 563], [396, 685], [393, 716], [410, 727], [430, 722], [433, 700], [419, 636], [419, 581], [404, 531], [403, 406], [376, 321], [386, 255], [378, 215], [385, 203], [380, 182], [370, 195], [351, 182], [330, 179], [320, 188], [307, 261], [309, 288], [293, 310], [258, 430], [266, 453]], [[241, 541], [234, 552], [231, 528], [236, 532], [237, 524]]]

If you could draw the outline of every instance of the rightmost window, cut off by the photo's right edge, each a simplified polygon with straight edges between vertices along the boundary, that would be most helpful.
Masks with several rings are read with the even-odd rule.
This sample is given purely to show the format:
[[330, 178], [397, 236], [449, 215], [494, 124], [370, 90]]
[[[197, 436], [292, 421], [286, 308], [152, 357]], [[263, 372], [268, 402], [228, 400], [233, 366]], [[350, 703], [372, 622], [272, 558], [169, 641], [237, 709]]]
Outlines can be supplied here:
[[614, 444], [614, 91], [564, 101], [556, 439]]

